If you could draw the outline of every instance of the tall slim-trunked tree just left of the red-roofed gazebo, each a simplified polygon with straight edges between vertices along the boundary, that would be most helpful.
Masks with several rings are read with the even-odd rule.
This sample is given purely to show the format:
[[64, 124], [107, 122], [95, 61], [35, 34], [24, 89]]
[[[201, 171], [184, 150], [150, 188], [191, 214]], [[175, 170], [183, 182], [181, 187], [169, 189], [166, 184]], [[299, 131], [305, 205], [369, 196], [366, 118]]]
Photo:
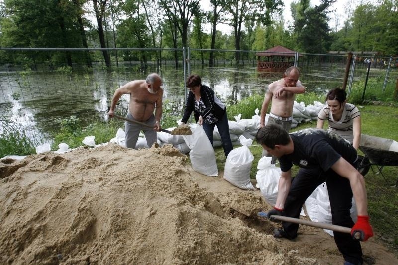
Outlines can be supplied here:
[[228, 24], [234, 29], [235, 60], [239, 62], [242, 26], [245, 21], [258, 21], [263, 25], [271, 23], [271, 13], [282, 6], [281, 0], [227, 0], [225, 10], [231, 18]]

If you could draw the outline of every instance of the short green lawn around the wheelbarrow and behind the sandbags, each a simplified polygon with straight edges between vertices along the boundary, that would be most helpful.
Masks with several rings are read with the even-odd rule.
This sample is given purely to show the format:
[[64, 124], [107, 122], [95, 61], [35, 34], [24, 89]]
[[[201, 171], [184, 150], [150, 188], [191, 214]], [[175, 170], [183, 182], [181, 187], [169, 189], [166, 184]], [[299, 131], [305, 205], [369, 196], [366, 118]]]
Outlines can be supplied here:
[[[397, 120], [398, 108], [392, 106], [377, 105], [357, 105], [361, 111], [362, 133], [398, 140]], [[316, 121], [299, 124], [292, 131], [316, 127]], [[239, 146], [235, 146], [239, 147]], [[253, 142], [250, 151], [254, 156], [250, 178], [255, 178], [257, 173], [257, 164], [261, 158], [262, 149]], [[361, 151], [358, 151], [362, 154]], [[223, 149], [215, 149], [217, 167], [223, 171], [225, 166], [225, 155]], [[375, 166], [373, 166], [376, 169]], [[298, 167], [292, 169], [293, 176], [298, 171]], [[398, 167], [384, 167], [383, 174], [390, 183], [395, 183], [398, 178]], [[392, 250], [398, 250], [398, 187], [391, 187], [380, 174], [369, 170], [365, 176], [366, 189], [368, 194], [368, 212], [371, 217], [375, 235]]]

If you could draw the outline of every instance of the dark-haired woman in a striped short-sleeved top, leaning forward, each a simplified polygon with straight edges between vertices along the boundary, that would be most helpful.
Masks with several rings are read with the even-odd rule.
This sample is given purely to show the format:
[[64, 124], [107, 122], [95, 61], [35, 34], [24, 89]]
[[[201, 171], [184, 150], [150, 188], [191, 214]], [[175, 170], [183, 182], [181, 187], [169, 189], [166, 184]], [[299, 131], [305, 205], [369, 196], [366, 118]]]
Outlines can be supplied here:
[[347, 93], [334, 88], [327, 93], [326, 106], [319, 111], [316, 128], [323, 128], [329, 122], [329, 131], [350, 141], [358, 150], [361, 142], [361, 113], [353, 104], [347, 103]]

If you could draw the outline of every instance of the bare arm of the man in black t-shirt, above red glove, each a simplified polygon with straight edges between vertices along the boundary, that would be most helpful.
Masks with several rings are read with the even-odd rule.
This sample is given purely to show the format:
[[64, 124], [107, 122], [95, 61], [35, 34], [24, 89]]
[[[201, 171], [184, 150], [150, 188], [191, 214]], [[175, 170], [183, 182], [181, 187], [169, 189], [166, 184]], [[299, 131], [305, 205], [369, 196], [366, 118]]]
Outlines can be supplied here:
[[341, 177], [345, 177], [350, 181], [352, 194], [357, 205], [358, 215], [368, 216], [368, 199], [365, 189], [364, 177], [343, 157], [340, 157], [336, 163], [332, 165], [332, 170]]

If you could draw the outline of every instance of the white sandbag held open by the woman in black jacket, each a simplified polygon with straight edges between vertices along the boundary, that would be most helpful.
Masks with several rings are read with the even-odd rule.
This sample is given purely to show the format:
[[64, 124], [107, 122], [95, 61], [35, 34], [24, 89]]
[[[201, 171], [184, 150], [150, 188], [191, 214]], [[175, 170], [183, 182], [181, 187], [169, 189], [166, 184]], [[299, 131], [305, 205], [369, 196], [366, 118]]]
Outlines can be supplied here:
[[183, 139], [191, 149], [190, 159], [194, 170], [207, 176], [218, 176], [214, 149], [203, 127], [198, 125], [192, 135], [183, 135]]

